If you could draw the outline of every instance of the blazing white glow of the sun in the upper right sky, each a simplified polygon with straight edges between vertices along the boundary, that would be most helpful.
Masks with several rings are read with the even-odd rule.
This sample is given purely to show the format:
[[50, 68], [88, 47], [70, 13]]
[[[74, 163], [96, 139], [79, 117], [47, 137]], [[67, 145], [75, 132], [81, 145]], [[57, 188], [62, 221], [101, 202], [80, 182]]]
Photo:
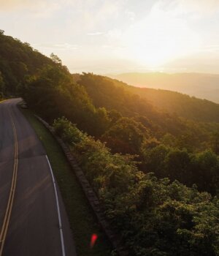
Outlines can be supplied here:
[[159, 6], [128, 29], [124, 38], [130, 58], [153, 68], [187, 55], [198, 45], [185, 20]]

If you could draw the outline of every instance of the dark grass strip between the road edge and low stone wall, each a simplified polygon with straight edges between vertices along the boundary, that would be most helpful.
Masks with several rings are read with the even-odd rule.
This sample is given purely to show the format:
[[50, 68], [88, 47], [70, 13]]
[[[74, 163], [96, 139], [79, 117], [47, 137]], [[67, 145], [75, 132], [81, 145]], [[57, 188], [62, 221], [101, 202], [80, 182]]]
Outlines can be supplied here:
[[[74, 242], [78, 256], [107, 256], [111, 246], [104, 233], [100, 230], [91, 206], [88, 204], [74, 172], [64, 156], [61, 147], [56, 143], [53, 135], [34, 117], [31, 110], [20, 109], [34, 128], [45, 147], [47, 156], [53, 167], [58, 187], [66, 206], [69, 222], [72, 227]], [[96, 233], [99, 238], [93, 249], [90, 249], [91, 234]]]

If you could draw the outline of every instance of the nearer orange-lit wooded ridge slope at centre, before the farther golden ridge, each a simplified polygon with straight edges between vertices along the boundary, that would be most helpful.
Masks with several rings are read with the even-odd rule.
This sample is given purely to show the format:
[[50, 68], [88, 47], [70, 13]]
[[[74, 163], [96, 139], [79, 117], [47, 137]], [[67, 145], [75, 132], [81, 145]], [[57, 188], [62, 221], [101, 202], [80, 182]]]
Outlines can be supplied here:
[[138, 121], [142, 118], [147, 128], [153, 127], [152, 130], [159, 130], [161, 134], [179, 135], [186, 129], [187, 124], [180, 118], [158, 110], [149, 100], [128, 91], [123, 83], [91, 73], [80, 75], [77, 83], [85, 88], [96, 108], [117, 110], [123, 116], [137, 118]]

